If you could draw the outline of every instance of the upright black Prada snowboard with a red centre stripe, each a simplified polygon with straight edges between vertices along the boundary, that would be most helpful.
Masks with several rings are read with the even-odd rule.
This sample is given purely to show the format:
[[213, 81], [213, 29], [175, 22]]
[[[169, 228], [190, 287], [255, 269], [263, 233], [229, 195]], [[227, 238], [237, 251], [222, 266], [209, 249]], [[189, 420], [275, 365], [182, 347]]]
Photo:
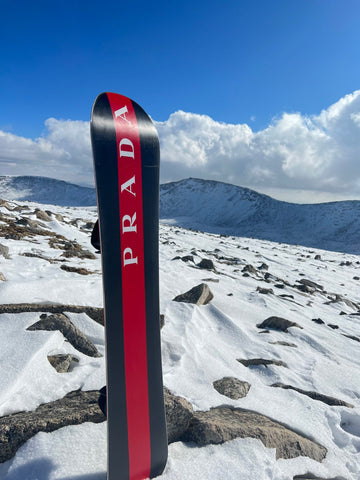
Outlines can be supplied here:
[[108, 480], [160, 475], [167, 459], [159, 312], [156, 129], [129, 98], [100, 94], [91, 143], [106, 345]]

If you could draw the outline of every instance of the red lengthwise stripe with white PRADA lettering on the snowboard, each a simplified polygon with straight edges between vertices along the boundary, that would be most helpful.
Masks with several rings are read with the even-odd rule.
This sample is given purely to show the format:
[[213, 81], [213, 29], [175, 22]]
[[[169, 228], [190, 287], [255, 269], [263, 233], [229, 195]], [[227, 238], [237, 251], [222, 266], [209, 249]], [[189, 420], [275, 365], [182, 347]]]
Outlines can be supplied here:
[[143, 480], [150, 476], [151, 452], [140, 137], [131, 100], [107, 95], [118, 145], [129, 478]]

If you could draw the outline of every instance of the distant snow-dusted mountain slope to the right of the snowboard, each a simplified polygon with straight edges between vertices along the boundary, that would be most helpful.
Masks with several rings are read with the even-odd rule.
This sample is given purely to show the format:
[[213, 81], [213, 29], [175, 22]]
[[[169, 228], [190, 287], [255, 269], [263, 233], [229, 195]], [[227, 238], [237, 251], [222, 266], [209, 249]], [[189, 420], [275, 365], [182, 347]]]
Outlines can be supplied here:
[[299, 205], [187, 179], [161, 187], [160, 215], [186, 228], [360, 253], [360, 201]]

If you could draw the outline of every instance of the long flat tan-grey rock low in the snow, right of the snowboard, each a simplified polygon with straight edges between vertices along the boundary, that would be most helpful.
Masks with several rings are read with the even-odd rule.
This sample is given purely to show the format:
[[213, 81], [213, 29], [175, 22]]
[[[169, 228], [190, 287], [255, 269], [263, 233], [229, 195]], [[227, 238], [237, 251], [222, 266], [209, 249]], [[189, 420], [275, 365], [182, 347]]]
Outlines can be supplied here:
[[265, 415], [225, 406], [195, 412], [182, 440], [205, 446], [248, 437], [261, 440], [267, 448], [276, 448], [277, 459], [306, 456], [321, 462], [327, 453], [322, 445]]

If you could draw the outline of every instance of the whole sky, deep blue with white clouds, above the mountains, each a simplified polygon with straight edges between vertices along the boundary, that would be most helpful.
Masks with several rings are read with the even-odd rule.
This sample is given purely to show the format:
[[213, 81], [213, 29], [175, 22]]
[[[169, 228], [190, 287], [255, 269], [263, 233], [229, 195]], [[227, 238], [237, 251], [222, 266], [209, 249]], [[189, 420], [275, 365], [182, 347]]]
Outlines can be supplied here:
[[358, 0], [1, 0], [0, 175], [93, 185], [103, 91], [152, 117], [161, 181], [360, 199]]

